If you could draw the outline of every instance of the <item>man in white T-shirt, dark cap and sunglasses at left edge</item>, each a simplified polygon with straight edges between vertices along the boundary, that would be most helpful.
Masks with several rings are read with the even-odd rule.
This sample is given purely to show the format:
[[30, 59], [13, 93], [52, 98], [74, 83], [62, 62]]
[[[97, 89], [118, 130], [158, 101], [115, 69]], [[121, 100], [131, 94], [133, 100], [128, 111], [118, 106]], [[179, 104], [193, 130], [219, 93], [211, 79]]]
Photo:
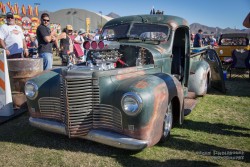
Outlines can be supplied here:
[[0, 27], [0, 44], [7, 59], [22, 58], [22, 53], [29, 55], [23, 30], [15, 24], [12, 12], [6, 13], [6, 24]]

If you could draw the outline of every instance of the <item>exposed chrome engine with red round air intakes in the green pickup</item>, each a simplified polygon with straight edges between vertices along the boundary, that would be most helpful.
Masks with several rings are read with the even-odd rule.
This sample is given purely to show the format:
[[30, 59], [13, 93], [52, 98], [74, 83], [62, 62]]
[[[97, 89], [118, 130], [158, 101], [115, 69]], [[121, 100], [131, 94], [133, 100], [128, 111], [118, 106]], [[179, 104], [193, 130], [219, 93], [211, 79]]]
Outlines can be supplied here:
[[86, 65], [89, 67], [97, 66], [99, 70], [153, 63], [151, 53], [145, 48], [120, 45], [116, 41], [86, 41], [84, 48], [88, 50]]

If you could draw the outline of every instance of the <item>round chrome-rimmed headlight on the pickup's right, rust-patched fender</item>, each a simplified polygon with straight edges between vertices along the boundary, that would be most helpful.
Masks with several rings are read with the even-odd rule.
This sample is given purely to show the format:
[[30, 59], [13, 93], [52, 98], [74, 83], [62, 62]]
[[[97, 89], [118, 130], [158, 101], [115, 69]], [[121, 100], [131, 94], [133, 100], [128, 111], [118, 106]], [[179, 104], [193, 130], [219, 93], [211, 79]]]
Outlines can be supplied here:
[[135, 116], [142, 109], [142, 99], [136, 93], [128, 92], [123, 95], [121, 106], [126, 114]]

